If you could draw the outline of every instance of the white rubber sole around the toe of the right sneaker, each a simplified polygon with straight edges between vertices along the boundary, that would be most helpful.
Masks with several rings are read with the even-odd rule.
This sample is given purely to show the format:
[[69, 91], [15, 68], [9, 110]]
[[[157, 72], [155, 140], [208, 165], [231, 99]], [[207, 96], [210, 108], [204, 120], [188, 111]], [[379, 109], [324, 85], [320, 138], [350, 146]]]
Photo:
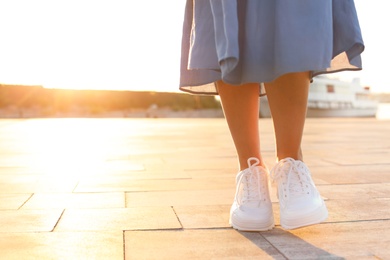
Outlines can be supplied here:
[[286, 219], [280, 216], [280, 225], [287, 230], [319, 224], [328, 218], [328, 209], [325, 203], [321, 207], [311, 212], [309, 215], [299, 219]]

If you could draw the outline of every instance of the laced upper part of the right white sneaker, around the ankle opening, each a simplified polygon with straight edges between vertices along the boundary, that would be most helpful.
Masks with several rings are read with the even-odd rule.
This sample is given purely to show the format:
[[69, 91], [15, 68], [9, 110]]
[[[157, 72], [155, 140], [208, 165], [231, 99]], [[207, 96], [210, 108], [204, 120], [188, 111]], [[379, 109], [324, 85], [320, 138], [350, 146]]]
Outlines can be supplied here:
[[292, 158], [280, 160], [271, 170], [271, 178], [277, 183], [282, 182], [283, 196], [299, 198], [307, 196], [311, 192], [311, 178], [303, 162]]

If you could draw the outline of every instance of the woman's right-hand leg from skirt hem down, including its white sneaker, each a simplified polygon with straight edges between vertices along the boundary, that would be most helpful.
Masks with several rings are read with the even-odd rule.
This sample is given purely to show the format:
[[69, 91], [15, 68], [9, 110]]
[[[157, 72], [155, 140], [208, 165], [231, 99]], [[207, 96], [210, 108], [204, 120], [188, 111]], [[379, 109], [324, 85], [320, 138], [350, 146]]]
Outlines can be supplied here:
[[265, 85], [279, 161], [271, 176], [278, 185], [280, 224], [286, 229], [317, 224], [328, 217], [309, 169], [302, 162], [309, 83], [308, 72], [301, 72], [286, 74]]

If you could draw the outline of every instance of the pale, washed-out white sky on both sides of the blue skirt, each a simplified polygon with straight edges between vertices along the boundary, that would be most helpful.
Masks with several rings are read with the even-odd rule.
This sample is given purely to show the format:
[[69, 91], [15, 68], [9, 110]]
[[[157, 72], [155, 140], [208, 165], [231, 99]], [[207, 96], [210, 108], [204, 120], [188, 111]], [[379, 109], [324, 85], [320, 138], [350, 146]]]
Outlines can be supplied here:
[[[340, 0], [343, 1], [343, 0]], [[355, 0], [361, 77], [390, 92], [387, 1]], [[0, 83], [177, 91], [185, 0], [0, 0]]]

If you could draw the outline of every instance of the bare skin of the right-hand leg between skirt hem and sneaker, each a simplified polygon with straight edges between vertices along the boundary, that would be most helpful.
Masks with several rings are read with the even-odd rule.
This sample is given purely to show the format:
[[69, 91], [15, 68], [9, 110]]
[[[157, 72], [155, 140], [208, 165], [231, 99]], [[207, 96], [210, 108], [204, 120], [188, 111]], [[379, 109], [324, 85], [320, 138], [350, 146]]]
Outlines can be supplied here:
[[275, 128], [278, 160], [303, 160], [301, 141], [306, 118], [309, 73], [285, 74], [266, 83], [268, 102]]

